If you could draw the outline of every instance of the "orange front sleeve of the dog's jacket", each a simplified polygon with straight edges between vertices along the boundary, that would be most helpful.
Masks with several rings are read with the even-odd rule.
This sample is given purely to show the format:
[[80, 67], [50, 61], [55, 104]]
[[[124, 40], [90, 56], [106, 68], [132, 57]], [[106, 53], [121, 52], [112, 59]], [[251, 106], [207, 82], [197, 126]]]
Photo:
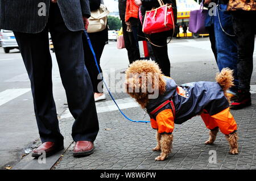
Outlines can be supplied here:
[[158, 133], [171, 134], [174, 131], [174, 115], [171, 109], [163, 110], [156, 116]]

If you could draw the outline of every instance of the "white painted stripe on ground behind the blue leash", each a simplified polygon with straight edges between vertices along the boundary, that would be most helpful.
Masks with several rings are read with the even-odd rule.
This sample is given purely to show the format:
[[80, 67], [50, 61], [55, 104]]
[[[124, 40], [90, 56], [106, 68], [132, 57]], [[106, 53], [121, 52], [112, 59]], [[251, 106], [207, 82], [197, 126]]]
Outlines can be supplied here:
[[[127, 108], [139, 107], [139, 104], [135, 102], [135, 100], [131, 98], [123, 98], [115, 100], [120, 108], [120, 110], [125, 110]], [[108, 100], [104, 102], [96, 102], [96, 110], [97, 113], [102, 112], [110, 112], [110, 111], [117, 111], [118, 108], [113, 102], [113, 100]], [[68, 108], [63, 112], [60, 116], [62, 118], [72, 117], [71, 112], [69, 112]]]

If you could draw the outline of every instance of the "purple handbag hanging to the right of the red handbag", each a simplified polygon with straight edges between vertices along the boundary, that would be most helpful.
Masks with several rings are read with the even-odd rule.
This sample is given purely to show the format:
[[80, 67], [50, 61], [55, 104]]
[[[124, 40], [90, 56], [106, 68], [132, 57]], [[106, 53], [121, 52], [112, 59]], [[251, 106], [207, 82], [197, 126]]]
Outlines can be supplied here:
[[205, 28], [205, 19], [208, 10], [203, 9], [203, 1], [199, 10], [190, 11], [188, 30], [192, 33], [206, 34], [209, 33]]

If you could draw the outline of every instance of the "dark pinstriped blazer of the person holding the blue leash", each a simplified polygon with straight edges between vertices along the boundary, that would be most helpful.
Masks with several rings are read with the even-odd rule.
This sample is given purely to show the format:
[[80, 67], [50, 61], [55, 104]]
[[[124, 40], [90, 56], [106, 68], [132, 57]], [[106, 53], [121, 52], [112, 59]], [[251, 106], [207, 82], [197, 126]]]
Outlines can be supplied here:
[[[88, 0], [58, 0], [65, 25], [70, 31], [84, 30], [82, 16], [90, 17]], [[0, 0], [0, 29], [24, 33], [44, 30], [50, 0]]]

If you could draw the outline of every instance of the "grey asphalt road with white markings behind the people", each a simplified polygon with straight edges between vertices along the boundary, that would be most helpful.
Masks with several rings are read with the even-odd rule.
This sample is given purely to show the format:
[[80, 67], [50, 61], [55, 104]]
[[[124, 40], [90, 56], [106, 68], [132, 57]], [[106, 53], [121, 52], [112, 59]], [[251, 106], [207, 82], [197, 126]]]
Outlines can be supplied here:
[[[197, 66], [198, 69], [201, 68], [199, 65], [205, 65], [205, 67], [211, 65], [211, 68], [218, 71], [208, 38], [174, 39], [168, 45], [168, 53], [172, 65], [171, 73], [174, 69], [180, 70], [172, 75], [178, 84], [204, 80], [208, 76], [207, 69], [204, 76], [198, 73], [194, 75], [191, 72], [197, 69]], [[67, 110], [67, 101], [55, 54], [51, 54], [53, 95], [57, 112], [62, 115]], [[256, 50], [254, 60], [256, 60]], [[106, 45], [101, 58], [101, 67], [105, 73], [124, 70], [128, 65], [126, 49], [117, 49], [113, 41]], [[253, 76], [251, 84], [256, 84], [255, 77]], [[30, 82], [22, 57], [18, 50], [11, 50], [10, 53], [5, 54], [0, 48], [0, 169], [7, 165], [15, 165], [24, 150], [38, 137]]]

